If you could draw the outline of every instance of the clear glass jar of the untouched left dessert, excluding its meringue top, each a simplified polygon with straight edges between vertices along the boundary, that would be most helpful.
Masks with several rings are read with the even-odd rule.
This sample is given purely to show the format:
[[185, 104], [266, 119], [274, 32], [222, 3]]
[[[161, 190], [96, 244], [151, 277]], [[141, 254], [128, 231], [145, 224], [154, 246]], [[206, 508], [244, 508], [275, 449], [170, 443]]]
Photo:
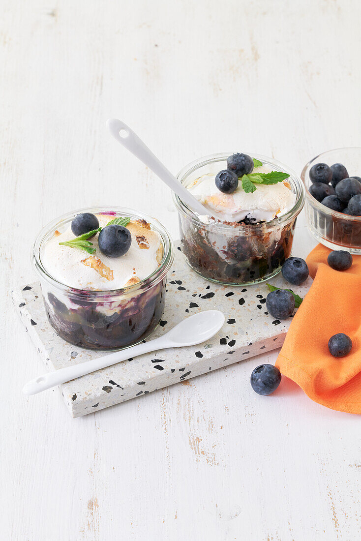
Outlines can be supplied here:
[[[145, 280], [113, 291], [75, 289], [58, 282], [45, 270], [42, 247], [55, 229], [69, 227], [76, 214], [111, 213], [146, 220], [163, 244], [160, 266]], [[167, 230], [157, 220], [135, 210], [121, 207], [91, 207], [76, 210], [45, 226], [32, 249], [32, 263], [40, 277], [45, 311], [56, 333], [78, 347], [109, 350], [121, 349], [145, 340], [159, 324], [166, 293], [166, 276], [173, 263], [174, 249]]]

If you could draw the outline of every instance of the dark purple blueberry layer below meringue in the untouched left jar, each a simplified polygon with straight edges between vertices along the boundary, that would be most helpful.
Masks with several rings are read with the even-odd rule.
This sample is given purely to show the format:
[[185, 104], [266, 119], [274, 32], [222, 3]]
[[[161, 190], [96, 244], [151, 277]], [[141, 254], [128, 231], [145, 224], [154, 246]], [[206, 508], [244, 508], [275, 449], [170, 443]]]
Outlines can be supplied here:
[[166, 279], [134, 296], [109, 295], [109, 302], [96, 300], [96, 293], [79, 291], [62, 298], [56, 291], [44, 291], [50, 324], [71, 344], [88, 349], [119, 349], [136, 344], [159, 324], [165, 303]]

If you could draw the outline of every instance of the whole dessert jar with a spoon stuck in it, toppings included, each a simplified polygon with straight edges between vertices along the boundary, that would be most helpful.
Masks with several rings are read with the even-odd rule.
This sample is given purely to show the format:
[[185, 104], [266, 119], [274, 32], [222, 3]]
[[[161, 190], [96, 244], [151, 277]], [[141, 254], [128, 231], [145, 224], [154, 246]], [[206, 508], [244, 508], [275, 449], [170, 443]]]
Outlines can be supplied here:
[[283, 164], [251, 156], [214, 154], [195, 160], [178, 174], [178, 180], [209, 209], [208, 215], [199, 216], [173, 196], [182, 252], [188, 265], [207, 280], [233, 286], [262, 282], [277, 274], [291, 254], [305, 200], [303, 183]]

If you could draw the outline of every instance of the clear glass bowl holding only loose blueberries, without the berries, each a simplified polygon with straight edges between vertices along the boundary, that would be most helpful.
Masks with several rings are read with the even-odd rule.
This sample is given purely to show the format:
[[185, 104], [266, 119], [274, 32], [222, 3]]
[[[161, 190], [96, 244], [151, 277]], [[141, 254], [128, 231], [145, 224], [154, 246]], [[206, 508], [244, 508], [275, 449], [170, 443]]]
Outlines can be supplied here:
[[361, 253], [361, 216], [349, 216], [325, 207], [309, 192], [310, 169], [315, 163], [342, 163], [349, 175], [361, 176], [361, 148], [337, 148], [314, 157], [301, 173], [306, 188], [307, 226], [318, 242], [337, 250], [346, 248], [351, 254]]

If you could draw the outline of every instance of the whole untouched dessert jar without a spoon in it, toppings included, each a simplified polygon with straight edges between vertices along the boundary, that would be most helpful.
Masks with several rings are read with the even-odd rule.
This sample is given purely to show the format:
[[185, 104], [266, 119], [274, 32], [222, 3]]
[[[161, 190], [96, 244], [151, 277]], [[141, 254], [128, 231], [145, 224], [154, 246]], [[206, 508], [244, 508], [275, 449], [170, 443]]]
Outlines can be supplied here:
[[173, 242], [157, 220], [120, 207], [61, 216], [32, 251], [51, 326], [71, 344], [99, 350], [135, 345], [154, 331], [173, 258]]

